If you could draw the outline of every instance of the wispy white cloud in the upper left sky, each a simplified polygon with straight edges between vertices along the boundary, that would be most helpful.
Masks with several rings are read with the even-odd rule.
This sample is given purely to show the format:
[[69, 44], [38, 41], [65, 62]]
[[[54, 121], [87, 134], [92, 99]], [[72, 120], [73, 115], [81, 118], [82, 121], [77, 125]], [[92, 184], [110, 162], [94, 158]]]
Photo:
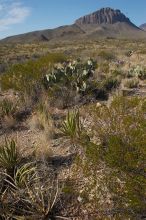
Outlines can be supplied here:
[[0, 0], [0, 31], [22, 23], [30, 15], [30, 8], [21, 0]]

